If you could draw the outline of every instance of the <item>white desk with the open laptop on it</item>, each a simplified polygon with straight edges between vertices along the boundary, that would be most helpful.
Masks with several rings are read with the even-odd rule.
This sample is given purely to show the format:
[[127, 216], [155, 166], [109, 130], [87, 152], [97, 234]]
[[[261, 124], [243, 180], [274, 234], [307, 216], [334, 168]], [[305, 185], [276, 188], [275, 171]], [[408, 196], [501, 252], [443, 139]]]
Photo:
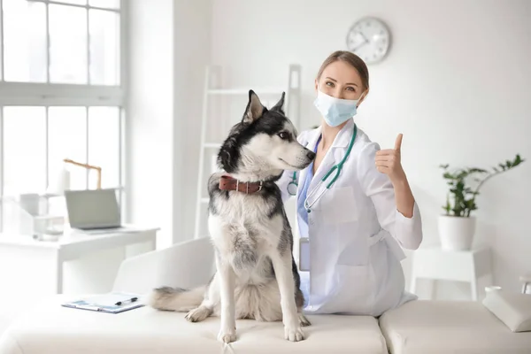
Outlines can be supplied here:
[[[137, 243], [147, 242], [150, 250], [156, 250], [158, 228], [136, 228], [125, 232], [111, 232], [108, 234], [85, 234], [67, 231], [58, 241], [36, 241], [24, 235], [0, 234], [0, 260], [9, 256], [4, 264], [5, 273], [15, 273], [23, 262], [37, 259], [36, 266], [52, 266], [55, 270], [55, 292], [63, 293], [64, 263], [87, 256], [99, 250], [126, 247]], [[127, 257], [127, 251], [126, 251]], [[22, 264], [18, 261], [22, 262]], [[27, 278], [20, 276], [20, 278]], [[19, 280], [27, 281], [27, 279]]]

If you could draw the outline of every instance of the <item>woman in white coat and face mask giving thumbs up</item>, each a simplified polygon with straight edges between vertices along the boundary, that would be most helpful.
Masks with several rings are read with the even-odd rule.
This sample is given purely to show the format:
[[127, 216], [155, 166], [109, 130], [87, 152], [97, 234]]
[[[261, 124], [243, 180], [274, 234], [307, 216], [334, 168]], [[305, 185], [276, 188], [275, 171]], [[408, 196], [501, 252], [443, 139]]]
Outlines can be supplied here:
[[369, 93], [365, 62], [349, 51], [332, 53], [315, 80], [319, 127], [298, 142], [316, 153], [300, 172], [277, 182], [296, 196], [306, 313], [380, 316], [417, 299], [404, 290], [404, 249], [422, 241], [419, 207], [400, 164], [402, 135], [381, 150], [356, 125]]

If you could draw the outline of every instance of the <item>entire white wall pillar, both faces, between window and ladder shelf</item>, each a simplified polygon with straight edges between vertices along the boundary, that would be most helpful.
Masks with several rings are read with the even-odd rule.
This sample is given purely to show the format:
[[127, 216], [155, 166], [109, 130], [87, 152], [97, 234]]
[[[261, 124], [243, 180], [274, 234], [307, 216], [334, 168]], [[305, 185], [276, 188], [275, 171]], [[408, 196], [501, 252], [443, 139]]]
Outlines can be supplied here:
[[[166, 247], [191, 234], [186, 221], [194, 212], [189, 198], [195, 196], [196, 158], [187, 151], [199, 135], [212, 3], [130, 0], [127, 4], [127, 220], [161, 227], [158, 246]], [[185, 168], [188, 163], [194, 166]]]

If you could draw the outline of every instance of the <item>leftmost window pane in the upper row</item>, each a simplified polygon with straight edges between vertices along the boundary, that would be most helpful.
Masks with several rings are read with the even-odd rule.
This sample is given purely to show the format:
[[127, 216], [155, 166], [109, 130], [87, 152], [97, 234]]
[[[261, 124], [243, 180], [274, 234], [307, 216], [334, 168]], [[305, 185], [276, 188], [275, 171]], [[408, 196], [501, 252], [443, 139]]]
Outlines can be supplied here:
[[46, 81], [46, 5], [4, 0], [5, 81]]

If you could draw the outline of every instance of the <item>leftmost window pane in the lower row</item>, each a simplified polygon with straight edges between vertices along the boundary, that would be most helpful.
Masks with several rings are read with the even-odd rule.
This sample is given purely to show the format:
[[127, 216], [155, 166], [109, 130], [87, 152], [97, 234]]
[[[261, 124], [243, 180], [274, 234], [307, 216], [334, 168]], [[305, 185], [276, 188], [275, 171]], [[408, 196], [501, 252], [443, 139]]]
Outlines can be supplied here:
[[4, 194], [46, 189], [44, 107], [4, 107]]

